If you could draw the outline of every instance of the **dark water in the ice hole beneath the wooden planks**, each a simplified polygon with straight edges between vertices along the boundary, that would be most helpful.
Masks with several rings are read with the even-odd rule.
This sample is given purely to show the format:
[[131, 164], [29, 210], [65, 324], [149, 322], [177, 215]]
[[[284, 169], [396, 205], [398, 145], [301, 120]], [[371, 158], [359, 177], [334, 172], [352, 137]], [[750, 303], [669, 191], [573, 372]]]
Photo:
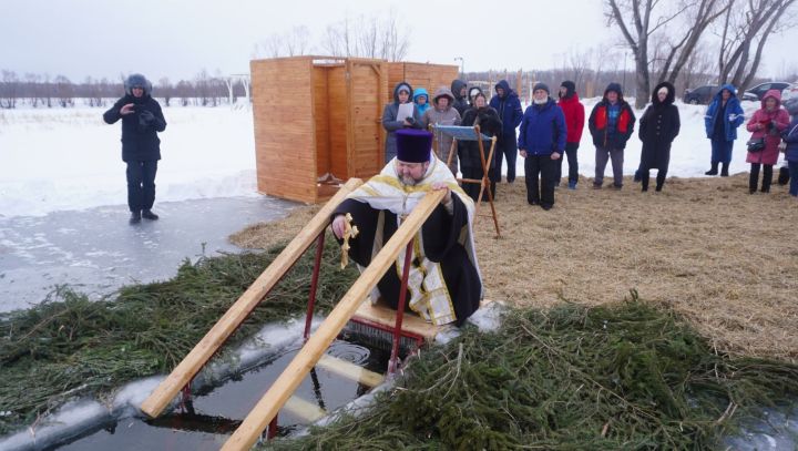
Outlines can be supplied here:
[[[354, 341], [355, 337], [347, 337], [347, 340], [335, 341], [327, 353], [377, 373], [386, 373], [390, 350], [375, 348], [374, 345], [366, 347]], [[176, 408], [155, 420], [134, 417], [110, 421], [45, 450], [218, 450], [298, 350], [298, 347], [290, 348], [250, 370], [232, 376], [218, 386], [195, 392], [193, 412]], [[294, 396], [331, 412], [368, 390], [368, 387], [356, 381], [317, 368], [303, 380]], [[278, 435], [289, 434], [303, 426], [303, 421], [282, 410], [277, 418]]]

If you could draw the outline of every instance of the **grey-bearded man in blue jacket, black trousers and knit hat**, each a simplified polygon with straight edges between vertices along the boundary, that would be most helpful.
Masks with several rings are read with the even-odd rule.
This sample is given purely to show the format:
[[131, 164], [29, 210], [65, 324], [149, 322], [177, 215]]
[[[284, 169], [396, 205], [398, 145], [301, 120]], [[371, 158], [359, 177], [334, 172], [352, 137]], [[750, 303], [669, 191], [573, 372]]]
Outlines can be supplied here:
[[[519, 153], [524, 157], [526, 202], [543, 209], [554, 206], [557, 160], [565, 152], [565, 114], [550, 96], [549, 86], [536, 83], [532, 104], [521, 120]], [[540, 176], [540, 187], [538, 185]]]

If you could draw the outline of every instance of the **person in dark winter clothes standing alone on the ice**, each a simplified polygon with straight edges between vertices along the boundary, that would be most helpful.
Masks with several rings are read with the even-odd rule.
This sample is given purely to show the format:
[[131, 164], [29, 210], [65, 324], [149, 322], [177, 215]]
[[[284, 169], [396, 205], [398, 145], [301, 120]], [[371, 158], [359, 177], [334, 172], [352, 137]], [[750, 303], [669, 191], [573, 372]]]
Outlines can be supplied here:
[[127, 207], [131, 224], [157, 219], [152, 212], [155, 203], [155, 173], [161, 160], [158, 132], [166, 130], [161, 105], [150, 94], [152, 83], [134, 73], [125, 80], [125, 95], [103, 114], [108, 124], [122, 120], [122, 161], [127, 164]]

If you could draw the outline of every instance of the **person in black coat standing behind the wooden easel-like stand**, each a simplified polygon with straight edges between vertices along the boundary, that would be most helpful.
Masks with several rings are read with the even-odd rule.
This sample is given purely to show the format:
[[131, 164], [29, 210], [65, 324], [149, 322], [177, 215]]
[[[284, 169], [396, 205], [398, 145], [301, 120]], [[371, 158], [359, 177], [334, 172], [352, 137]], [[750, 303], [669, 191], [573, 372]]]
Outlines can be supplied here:
[[[480, 132], [488, 136], [498, 136], [502, 130], [502, 122], [499, 113], [488, 106], [487, 99], [482, 92], [473, 98], [473, 106], [463, 113], [460, 125], [480, 126]], [[485, 158], [490, 152], [490, 141], [483, 142]], [[458, 156], [460, 157], [460, 172], [463, 178], [481, 180], [484, 172], [482, 171], [482, 158], [479, 153], [479, 143], [477, 141], [458, 142]], [[494, 166], [494, 160], [488, 161], [489, 171]], [[492, 172], [492, 171], [491, 171]], [[463, 183], [463, 191], [471, 196], [474, 202], [479, 197], [480, 185], [473, 183]], [[491, 181], [490, 191], [495, 198], [495, 182]], [[483, 198], [488, 198], [488, 194], [483, 194]]]

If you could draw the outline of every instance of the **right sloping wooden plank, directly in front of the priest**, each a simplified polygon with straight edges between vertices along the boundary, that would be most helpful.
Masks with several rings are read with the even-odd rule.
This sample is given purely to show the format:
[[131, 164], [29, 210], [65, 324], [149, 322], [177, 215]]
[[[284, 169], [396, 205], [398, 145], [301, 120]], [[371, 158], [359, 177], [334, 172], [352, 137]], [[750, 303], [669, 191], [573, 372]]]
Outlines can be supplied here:
[[321, 355], [346, 326], [357, 308], [360, 307], [362, 299], [377, 285], [377, 280], [396, 263], [399, 252], [418, 233], [424, 221], [443, 199], [443, 195], [444, 191], [429, 192], [419, 202], [410, 216], [386, 243], [335, 309], [321, 322], [316, 332], [310, 336], [307, 344], [288, 363], [288, 367], [277, 378], [272, 388], [266, 391], [266, 394], [260, 398], [260, 401], [222, 447], [223, 451], [244, 451], [255, 444], [260, 433], [294, 393], [305, 376], [321, 358]]

